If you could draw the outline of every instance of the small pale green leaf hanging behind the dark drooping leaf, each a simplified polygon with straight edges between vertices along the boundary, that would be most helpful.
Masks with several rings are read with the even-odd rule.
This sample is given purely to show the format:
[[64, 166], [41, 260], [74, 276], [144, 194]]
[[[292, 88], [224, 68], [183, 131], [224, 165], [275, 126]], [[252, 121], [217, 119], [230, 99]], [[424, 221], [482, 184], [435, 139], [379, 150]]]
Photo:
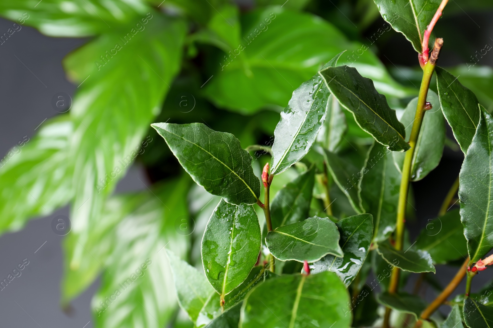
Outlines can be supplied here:
[[348, 130], [346, 116], [333, 94], [329, 95], [327, 116], [317, 135], [317, 141], [323, 148], [334, 152]]

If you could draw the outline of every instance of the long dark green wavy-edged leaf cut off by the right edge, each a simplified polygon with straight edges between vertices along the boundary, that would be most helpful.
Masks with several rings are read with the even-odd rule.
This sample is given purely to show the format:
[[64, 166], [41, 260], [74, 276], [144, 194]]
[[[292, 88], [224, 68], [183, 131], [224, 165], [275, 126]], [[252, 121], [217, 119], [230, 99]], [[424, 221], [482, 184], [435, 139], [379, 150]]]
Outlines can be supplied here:
[[459, 174], [460, 217], [472, 262], [493, 248], [493, 118], [481, 111]]

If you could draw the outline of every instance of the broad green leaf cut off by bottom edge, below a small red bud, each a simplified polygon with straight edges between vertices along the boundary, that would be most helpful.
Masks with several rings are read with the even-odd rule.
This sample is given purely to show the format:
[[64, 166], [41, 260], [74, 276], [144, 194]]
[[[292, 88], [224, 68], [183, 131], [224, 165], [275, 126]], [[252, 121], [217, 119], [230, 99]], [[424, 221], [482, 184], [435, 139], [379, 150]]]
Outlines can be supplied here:
[[243, 301], [240, 328], [347, 328], [351, 309], [346, 286], [333, 272], [283, 275], [253, 288]]

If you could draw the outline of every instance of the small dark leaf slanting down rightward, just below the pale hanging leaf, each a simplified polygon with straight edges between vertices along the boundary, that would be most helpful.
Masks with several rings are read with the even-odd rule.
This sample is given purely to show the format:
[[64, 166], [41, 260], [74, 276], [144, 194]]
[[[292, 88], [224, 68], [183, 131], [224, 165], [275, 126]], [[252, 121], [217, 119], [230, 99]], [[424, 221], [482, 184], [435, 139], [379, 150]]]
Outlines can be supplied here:
[[[324, 149], [325, 150], [325, 149]], [[361, 169], [328, 150], [324, 151], [327, 168], [341, 191], [348, 197], [356, 213], [362, 213], [358, 198], [358, 183]]]

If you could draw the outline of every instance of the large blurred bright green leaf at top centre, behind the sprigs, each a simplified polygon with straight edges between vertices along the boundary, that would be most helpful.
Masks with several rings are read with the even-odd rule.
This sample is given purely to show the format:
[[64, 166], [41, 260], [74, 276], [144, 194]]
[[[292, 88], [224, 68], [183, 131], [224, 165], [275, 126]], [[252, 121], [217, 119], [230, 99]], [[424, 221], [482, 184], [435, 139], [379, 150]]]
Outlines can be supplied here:
[[203, 88], [216, 105], [244, 114], [265, 107], [284, 108], [294, 89], [344, 50], [348, 53], [341, 61], [361, 68], [381, 92], [393, 97], [416, 94], [397, 84], [366, 45], [348, 41], [332, 24], [313, 14], [285, 10], [288, 4], [242, 16], [240, 44], [211, 62], [217, 72]]

